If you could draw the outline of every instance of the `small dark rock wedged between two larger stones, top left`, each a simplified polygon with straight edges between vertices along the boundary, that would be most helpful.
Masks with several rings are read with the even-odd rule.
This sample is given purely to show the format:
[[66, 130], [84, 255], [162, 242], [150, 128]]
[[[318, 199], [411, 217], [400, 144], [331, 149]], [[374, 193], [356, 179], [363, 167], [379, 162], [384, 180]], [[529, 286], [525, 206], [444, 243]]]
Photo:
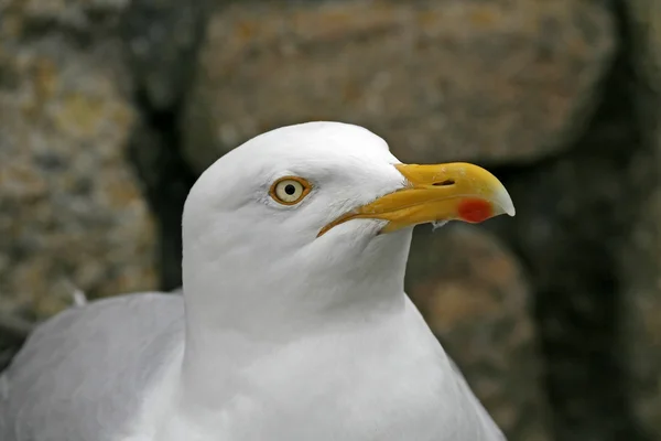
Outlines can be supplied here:
[[166, 110], [182, 99], [204, 34], [207, 0], [133, 0], [122, 35], [137, 87], [150, 106]]

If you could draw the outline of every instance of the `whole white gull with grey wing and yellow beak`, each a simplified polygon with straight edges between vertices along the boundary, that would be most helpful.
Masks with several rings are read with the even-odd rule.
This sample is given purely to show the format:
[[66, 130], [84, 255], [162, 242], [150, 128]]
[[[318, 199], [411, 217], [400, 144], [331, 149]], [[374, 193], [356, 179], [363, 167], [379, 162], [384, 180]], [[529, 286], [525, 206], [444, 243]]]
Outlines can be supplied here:
[[[403, 280], [414, 224], [468, 216], [453, 217], [466, 198], [513, 214], [511, 200], [464, 165], [427, 172], [338, 122], [229, 152], [185, 204], [183, 295], [90, 302], [41, 325], [0, 378], [0, 439], [505, 439]], [[441, 195], [435, 214], [412, 208], [425, 192]]]

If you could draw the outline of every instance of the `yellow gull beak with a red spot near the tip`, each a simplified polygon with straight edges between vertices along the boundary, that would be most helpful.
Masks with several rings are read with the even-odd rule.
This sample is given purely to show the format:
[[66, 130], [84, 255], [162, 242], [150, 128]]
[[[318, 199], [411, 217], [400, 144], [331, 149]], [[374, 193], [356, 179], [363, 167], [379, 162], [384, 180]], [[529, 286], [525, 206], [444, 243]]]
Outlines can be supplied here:
[[505, 186], [485, 169], [455, 162], [436, 165], [397, 164], [407, 186], [347, 213], [319, 232], [351, 219], [388, 220], [381, 233], [443, 220], [480, 223], [500, 214], [514, 215]]

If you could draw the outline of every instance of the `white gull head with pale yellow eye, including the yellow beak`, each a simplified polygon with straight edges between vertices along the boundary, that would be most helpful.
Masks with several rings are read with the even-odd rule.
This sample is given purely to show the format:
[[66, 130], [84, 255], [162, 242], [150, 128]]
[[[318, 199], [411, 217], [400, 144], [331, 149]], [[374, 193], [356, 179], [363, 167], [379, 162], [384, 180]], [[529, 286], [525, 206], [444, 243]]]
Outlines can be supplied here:
[[500, 214], [514, 215], [512, 201], [477, 165], [403, 164], [358, 126], [288, 126], [218, 159], [191, 190], [184, 290], [242, 323], [350, 309], [403, 293], [415, 225]]

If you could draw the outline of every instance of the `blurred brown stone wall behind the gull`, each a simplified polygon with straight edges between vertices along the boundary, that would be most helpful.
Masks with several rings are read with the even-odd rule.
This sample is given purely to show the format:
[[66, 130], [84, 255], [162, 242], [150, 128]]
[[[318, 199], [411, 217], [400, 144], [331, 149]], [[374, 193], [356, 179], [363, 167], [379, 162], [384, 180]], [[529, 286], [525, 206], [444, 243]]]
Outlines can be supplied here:
[[0, 0], [0, 366], [74, 287], [178, 287], [196, 176], [318, 119], [510, 190], [407, 280], [510, 440], [661, 439], [658, 0]]

